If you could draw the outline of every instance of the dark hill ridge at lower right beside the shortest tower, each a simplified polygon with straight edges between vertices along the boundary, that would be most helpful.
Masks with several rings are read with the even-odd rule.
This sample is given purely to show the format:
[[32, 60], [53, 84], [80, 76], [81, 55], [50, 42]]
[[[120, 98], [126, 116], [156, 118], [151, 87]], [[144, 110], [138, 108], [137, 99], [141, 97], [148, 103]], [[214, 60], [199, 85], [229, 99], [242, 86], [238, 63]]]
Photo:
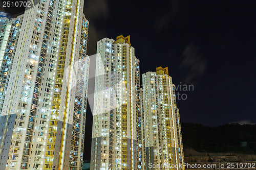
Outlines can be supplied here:
[[207, 127], [181, 123], [184, 148], [198, 152], [256, 155], [256, 125], [229, 124]]

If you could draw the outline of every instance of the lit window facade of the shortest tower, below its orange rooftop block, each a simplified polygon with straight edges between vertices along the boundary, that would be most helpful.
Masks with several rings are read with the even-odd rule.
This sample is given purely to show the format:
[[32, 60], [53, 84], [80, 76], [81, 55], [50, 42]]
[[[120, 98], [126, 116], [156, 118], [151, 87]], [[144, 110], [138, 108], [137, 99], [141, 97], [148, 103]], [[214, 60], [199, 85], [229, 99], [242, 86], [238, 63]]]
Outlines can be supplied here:
[[[154, 136], [156, 137], [156, 139], [158, 139], [146, 140], [146, 147], [155, 147], [154, 163], [173, 163], [174, 160], [176, 160], [175, 162], [178, 162], [179, 158], [177, 157], [180, 156], [178, 154], [175, 154], [174, 158], [172, 156], [172, 148], [174, 148], [173, 145], [178, 143], [178, 141], [175, 140], [175, 138], [180, 137], [181, 139], [181, 131], [176, 131], [174, 129], [174, 127], [180, 127], [180, 123], [178, 122], [179, 125], [175, 124], [174, 126], [172, 123], [173, 119], [176, 120], [176, 117], [173, 115], [174, 108], [176, 109], [176, 99], [172, 99], [171, 97], [174, 96], [173, 94], [175, 94], [175, 91], [173, 91], [174, 85], [172, 84], [171, 78], [168, 75], [157, 75], [156, 72], [147, 72], [146, 74], [143, 74], [142, 77], [144, 88], [144, 111], [145, 117], [147, 118], [145, 119], [145, 123], [146, 127], [148, 128], [148, 130], [146, 130], [146, 139], [152, 139]], [[172, 89], [170, 87], [172, 87]], [[170, 92], [172, 92], [172, 94], [170, 94]], [[155, 96], [158, 97], [158, 100], [155, 99]], [[156, 105], [158, 108], [157, 110], [159, 110], [159, 116], [154, 116]], [[152, 118], [150, 116], [151, 114], [153, 114]], [[156, 121], [156, 118], [159, 119], [158, 122], [161, 122], [160, 125], [162, 125], [158, 127], [158, 131], [160, 130], [160, 133], [154, 131], [156, 127], [155, 125], [157, 123], [154, 122]], [[176, 132], [180, 132], [180, 134], [177, 134]], [[174, 137], [174, 135], [176, 137]], [[161, 149], [160, 147], [156, 147], [160, 145]], [[182, 158], [182, 141], [181, 143], [179, 142], [178, 148], [180, 148], [179, 153], [182, 155]], [[164, 154], [163, 156], [162, 153]], [[184, 159], [179, 159], [179, 162], [183, 162], [183, 160]]]

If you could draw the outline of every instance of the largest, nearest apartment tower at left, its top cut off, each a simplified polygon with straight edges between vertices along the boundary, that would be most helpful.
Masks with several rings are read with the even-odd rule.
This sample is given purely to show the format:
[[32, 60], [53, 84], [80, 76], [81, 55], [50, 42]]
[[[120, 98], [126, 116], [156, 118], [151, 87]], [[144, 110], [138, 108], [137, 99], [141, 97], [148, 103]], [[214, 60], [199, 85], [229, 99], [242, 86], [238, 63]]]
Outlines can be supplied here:
[[89, 58], [83, 0], [11, 19], [0, 68], [0, 169], [82, 169]]

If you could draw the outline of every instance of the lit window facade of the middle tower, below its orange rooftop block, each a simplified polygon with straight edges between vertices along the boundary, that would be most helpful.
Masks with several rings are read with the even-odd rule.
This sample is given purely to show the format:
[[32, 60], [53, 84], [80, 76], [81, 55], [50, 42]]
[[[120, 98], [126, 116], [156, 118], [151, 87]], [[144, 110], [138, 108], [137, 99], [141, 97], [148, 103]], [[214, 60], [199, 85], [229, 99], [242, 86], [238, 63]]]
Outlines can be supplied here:
[[[114, 43], [113, 39], [104, 38], [101, 41], [98, 41], [97, 44], [97, 54], [99, 54], [100, 59], [97, 61], [100, 63], [104, 63], [104, 68], [106, 71], [105, 77], [96, 77], [95, 81], [95, 89], [101, 89], [101, 84], [107, 86], [111, 82], [122, 82], [118, 87], [116, 87], [116, 91], [118, 92], [118, 100], [120, 102], [119, 107], [116, 107], [115, 109], [111, 110], [109, 101], [104, 101], [104, 95], [109, 95], [110, 93], [99, 93], [96, 95], [95, 103], [94, 103], [94, 117], [93, 117], [93, 141], [95, 140], [95, 145], [92, 145], [92, 157], [91, 157], [91, 168], [92, 169], [98, 169], [98, 168], [108, 168], [113, 167], [113, 169], [127, 169], [128, 166], [133, 166], [133, 168], [143, 169], [145, 165], [142, 167], [141, 162], [137, 161], [137, 155], [140, 155], [141, 152], [137, 151], [137, 147], [133, 147], [133, 145], [139, 145], [142, 142], [134, 143], [134, 141], [131, 142], [131, 138], [137, 139], [139, 134], [137, 134], [136, 126], [137, 122], [136, 119], [138, 119], [137, 116], [141, 116], [139, 114], [139, 110], [137, 109], [139, 105], [139, 90], [140, 88], [134, 88], [134, 87], [140, 87], [137, 85], [139, 83], [139, 77], [136, 73], [139, 71], [139, 61], [134, 56], [134, 48], [130, 47], [130, 44], [127, 43]], [[114, 52], [114, 54], [113, 54]], [[111, 58], [110, 58], [111, 56]], [[115, 59], [117, 59], [115, 61]], [[117, 77], [117, 79], [111, 80], [111, 70], [112, 62], [114, 62], [114, 71], [117, 71], [120, 75]], [[96, 65], [99, 64], [96, 62]], [[137, 65], [137, 71], [135, 71], [134, 67]], [[115, 69], [116, 68], [116, 69]], [[97, 71], [97, 69], [96, 69]], [[100, 70], [99, 70], [100, 72]], [[132, 72], [132, 74], [131, 74]], [[96, 76], [97, 76], [96, 72]], [[109, 78], [109, 79], [108, 79]], [[105, 88], [105, 87], [104, 87]], [[104, 89], [103, 88], [103, 89]], [[97, 90], [96, 90], [97, 91]], [[110, 96], [111, 99], [111, 96]], [[99, 105], [100, 104], [100, 105]], [[133, 106], [133, 107], [132, 107]], [[135, 109], [134, 109], [135, 108]], [[110, 110], [110, 112], [113, 112], [114, 115], [116, 115], [116, 118], [114, 118], [116, 123], [116, 128], [114, 129], [114, 132], [116, 132], [113, 138], [113, 141], [116, 141], [114, 143], [110, 142], [108, 138], [106, 138], [104, 135], [108, 133], [111, 129], [110, 118], [111, 113], [107, 110]], [[97, 114], [102, 111], [102, 114]], [[106, 113], [104, 112], [106, 111]], [[132, 113], [131, 113], [132, 112]], [[106, 116], [106, 117], [105, 117]], [[118, 116], [118, 118], [117, 118]], [[137, 117], [137, 118], [136, 118]], [[103, 119], [103, 120], [102, 120]], [[103, 123], [103, 125], [102, 125]], [[105, 125], [106, 123], [106, 125]], [[101, 129], [103, 128], [103, 129]], [[109, 129], [110, 128], [110, 129]], [[115, 128], [115, 127], [112, 127]], [[133, 131], [131, 131], [133, 129]], [[103, 133], [102, 133], [103, 132]], [[109, 133], [111, 134], [111, 133]], [[108, 136], [107, 136], [108, 137]], [[99, 140], [100, 139], [100, 140]], [[116, 139], [116, 140], [114, 140]], [[142, 138], [141, 138], [142, 139]], [[100, 143], [100, 141], [102, 142]], [[128, 143], [131, 143], [130, 146]], [[94, 144], [94, 143], [93, 143]], [[112, 145], [113, 147], [112, 147]], [[111, 145], [111, 148], [116, 150], [116, 152], [113, 152], [114, 159], [108, 159], [108, 156], [111, 155], [109, 150], [104, 150], [104, 147], [109, 148], [109, 145]], [[98, 148], [98, 149], [97, 149]], [[130, 157], [128, 156], [128, 148], [132, 148], [131, 151], [134, 151]], [[95, 149], [95, 152], [93, 151]], [[103, 154], [97, 154], [98, 151], [102, 151]], [[139, 153], [140, 152], [140, 153]], [[106, 153], [106, 154], [105, 154]], [[109, 154], [108, 154], [109, 153]], [[98, 157], [97, 155], [100, 155]], [[106, 158], [105, 158], [106, 157]], [[131, 160], [131, 157], [134, 159]], [[141, 158], [143, 159], [143, 157]], [[137, 164], [135, 164], [137, 162]], [[130, 165], [129, 165], [130, 164]]]

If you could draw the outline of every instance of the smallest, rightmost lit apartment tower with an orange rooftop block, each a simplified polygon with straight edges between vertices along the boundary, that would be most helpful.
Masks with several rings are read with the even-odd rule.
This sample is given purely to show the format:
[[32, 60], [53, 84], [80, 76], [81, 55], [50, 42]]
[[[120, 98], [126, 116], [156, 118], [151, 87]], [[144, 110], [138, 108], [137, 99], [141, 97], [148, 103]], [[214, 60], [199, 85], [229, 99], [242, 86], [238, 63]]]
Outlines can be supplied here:
[[[179, 109], [175, 85], [168, 68], [142, 75], [147, 168], [152, 164], [179, 165], [184, 162]], [[162, 168], [155, 168], [162, 169]], [[181, 168], [167, 168], [181, 169]], [[183, 169], [183, 168], [182, 168]]]

